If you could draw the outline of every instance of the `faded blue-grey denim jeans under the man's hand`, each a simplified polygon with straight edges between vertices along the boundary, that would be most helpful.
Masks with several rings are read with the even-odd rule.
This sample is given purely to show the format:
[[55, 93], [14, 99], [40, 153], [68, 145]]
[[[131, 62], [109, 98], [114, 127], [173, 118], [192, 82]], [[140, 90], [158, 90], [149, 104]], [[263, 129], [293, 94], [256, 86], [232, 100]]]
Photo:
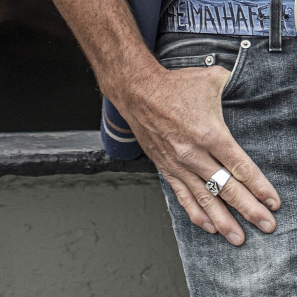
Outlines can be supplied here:
[[297, 297], [297, 38], [283, 37], [282, 51], [270, 52], [268, 37], [165, 33], [156, 52], [168, 69], [206, 67], [211, 55], [232, 71], [225, 122], [282, 200], [272, 234], [227, 205], [246, 234], [235, 247], [193, 224], [158, 172], [191, 297]]

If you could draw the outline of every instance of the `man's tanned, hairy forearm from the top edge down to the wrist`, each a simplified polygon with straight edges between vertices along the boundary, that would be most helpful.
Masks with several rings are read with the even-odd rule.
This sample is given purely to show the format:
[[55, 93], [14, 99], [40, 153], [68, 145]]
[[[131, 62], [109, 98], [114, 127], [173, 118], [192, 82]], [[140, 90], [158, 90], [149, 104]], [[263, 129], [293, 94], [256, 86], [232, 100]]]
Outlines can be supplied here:
[[99, 87], [125, 113], [153, 93], [162, 71], [125, 0], [54, 0], [88, 57]]

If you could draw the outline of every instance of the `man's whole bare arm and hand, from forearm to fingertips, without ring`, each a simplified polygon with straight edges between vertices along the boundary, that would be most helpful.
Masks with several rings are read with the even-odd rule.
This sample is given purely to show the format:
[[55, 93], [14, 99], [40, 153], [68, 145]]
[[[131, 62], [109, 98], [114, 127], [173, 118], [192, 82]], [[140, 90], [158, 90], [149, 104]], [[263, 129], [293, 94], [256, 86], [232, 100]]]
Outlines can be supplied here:
[[[221, 66], [166, 70], [146, 48], [124, 0], [54, 3], [89, 58], [101, 91], [128, 122], [192, 222], [242, 245], [244, 231], [224, 199], [260, 230], [273, 232], [270, 210], [280, 207], [280, 198], [223, 119], [221, 95], [230, 71]], [[222, 166], [233, 176], [214, 197], [205, 181]]]

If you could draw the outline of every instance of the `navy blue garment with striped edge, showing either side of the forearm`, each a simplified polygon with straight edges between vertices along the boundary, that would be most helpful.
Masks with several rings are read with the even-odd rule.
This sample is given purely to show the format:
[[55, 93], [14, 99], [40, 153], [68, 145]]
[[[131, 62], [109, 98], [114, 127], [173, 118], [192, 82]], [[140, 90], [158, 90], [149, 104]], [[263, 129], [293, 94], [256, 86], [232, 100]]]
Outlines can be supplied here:
[[[155, 45], [161, 2], [161, 0], [129, 0], [150, 50], [153, 50]], [[131, 160], [143, 153], [128, 123], [105, 96], [102, 101], [100, 132], [104, 148], [113, 159]]]

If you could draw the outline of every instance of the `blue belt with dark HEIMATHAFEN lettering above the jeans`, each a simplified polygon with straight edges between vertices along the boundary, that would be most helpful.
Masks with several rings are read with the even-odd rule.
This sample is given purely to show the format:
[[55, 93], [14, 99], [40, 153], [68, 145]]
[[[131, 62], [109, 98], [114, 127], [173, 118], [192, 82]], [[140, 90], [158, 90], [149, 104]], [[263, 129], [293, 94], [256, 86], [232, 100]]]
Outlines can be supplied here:
[[[282, 0], [281, 36], [297, 36], [295, 2]], [[269, 0], [175, 0], [163, 11], [159, 31], [269, 36], [273, 4]]]

